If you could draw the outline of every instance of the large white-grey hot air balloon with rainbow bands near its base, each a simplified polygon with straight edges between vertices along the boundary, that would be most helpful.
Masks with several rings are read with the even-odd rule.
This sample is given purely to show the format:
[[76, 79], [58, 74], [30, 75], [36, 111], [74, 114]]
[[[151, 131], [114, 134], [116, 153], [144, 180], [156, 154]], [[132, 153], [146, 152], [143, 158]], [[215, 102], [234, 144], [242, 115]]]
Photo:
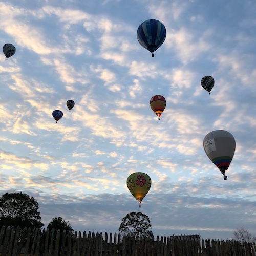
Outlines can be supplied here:
[[233, 135], [224, 130], [210, 132], [204, 137], [203, 146], [206, 155], [219, 168], [224, 175], [224, 180], [227, 180], [225, 172], [236, 149], [236, 141]]

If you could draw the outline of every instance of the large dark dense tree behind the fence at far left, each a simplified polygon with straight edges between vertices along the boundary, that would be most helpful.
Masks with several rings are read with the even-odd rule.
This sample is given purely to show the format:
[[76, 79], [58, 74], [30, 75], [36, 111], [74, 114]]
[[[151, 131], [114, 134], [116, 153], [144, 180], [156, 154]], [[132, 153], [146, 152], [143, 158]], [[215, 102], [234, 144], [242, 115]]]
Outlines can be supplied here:
[[30, 227], [32, 232], [42, 228], [38, 203], [25, 193], [5, 193], [0, 198], [0, 226]]

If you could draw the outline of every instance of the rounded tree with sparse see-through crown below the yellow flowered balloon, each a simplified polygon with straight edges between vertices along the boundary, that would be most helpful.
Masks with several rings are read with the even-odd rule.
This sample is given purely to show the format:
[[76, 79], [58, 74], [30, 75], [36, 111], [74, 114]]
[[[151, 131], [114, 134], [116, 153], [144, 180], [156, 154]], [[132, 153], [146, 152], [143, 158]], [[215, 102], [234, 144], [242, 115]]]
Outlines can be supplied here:
[[142, 212], [130, 212], [123, 219], [119, 227], [119, 231], [125, 233], [128, 236], [140, 236], [153, 237], [151, 231], [150, 219]]

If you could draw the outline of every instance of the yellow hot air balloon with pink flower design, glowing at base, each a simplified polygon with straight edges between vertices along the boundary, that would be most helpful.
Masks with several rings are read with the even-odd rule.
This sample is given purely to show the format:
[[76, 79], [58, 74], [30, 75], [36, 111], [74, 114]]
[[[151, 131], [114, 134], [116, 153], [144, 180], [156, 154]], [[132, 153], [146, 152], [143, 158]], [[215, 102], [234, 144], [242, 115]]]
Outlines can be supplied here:
[[151, 187], [151, 178], [145, 173], [133, 173], [127, 178], [127, 187], [140, 203]]

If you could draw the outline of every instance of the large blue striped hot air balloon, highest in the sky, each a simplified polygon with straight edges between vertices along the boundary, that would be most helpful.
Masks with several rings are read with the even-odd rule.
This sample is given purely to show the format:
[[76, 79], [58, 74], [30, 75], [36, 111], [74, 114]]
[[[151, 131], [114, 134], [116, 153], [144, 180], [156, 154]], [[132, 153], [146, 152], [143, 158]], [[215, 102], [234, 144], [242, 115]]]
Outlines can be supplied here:
[[164, 25], [156, 19], [147, 19], [142, 22], [137, 30], [137, 39], [142, 47], [154, 53], [164, 42], [166, 29]]

